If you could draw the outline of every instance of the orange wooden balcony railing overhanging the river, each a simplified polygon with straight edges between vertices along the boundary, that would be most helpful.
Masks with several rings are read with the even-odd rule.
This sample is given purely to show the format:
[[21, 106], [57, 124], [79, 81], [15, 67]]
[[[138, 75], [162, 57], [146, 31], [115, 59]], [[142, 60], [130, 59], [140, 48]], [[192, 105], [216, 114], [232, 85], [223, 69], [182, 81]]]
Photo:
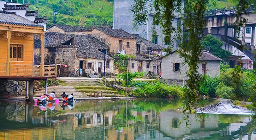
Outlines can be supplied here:
[[[7, 75], [7, 64], [0, 64], [0, 76], [15, 77], [42, 77], [40, 65], [10, 64], [10, 75]], [[44, 65], [43, 77], [56, 77], [56, 68], [54, 65]]]

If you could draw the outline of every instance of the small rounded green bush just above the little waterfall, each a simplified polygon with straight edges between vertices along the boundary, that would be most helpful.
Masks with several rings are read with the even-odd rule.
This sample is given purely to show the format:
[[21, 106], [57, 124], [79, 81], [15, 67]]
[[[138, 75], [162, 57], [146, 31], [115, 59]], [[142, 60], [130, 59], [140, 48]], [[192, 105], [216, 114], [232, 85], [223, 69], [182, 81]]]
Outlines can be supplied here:
[[231, 86], [227, 86], [226, 84], [224, 84], [224, 82], [220, 82], [216, 87], [215, 91], [220, 98], [229, 99], [234, 96], [234, 88], [232, 88]]

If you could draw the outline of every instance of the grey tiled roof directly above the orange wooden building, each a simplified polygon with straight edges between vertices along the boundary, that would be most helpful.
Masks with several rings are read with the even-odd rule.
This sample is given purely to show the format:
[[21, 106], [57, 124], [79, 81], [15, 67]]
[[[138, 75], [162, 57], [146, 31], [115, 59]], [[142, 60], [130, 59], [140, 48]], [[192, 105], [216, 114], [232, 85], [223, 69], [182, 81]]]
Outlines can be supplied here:
[[0, 23], [31, 27], [43, 27], [42, 25], [38, 25], [30, 20], [27, 20], [26, 18], [16, 15], [15, 12], [6, 11], [0, 11]]

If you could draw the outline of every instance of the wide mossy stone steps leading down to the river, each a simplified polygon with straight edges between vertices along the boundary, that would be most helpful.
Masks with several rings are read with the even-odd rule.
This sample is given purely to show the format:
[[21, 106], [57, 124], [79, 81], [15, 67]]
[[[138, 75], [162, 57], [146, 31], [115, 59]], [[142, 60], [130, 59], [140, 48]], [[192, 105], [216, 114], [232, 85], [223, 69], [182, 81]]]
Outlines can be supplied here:
[[[91, 97], [90, 93], [94, 91], [102, 91], [103, 97], [120, 97], [124, 96], [118, 91], [99, 84], [96, 80], [60, 80], [58, 86], [49, 86], [48, 93], [54, 91], [56, 96], [60, 97], [63, 92], [66, 94], [74, 94], [74, 97]], [[44, 88], [34, 92], [34, 96], [41, 96], [44, 94]]]

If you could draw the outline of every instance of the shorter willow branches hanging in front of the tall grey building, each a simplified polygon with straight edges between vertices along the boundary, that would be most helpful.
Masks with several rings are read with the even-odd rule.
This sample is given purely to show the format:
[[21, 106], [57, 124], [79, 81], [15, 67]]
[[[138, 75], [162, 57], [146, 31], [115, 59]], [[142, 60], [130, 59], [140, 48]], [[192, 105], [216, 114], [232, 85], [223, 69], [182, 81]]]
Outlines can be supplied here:
[[[154, 13], [153, 25], [160, 24], [162, 33], [165, 36], [165, 44], [169, 44], [169, 47], [173, 48], [173, 42], [175, 40], [181, 40], [181, 26], [174, 24], [173, 19], [177, 16], [175, 15], [176, 13], [182, 12], [182, 0], [134, 0], [132, 12], [135, 29], [147, 24], [149, 20], [148, 14]], [[152, 36], [157, 36], [155, 30], [152, 31]]]

